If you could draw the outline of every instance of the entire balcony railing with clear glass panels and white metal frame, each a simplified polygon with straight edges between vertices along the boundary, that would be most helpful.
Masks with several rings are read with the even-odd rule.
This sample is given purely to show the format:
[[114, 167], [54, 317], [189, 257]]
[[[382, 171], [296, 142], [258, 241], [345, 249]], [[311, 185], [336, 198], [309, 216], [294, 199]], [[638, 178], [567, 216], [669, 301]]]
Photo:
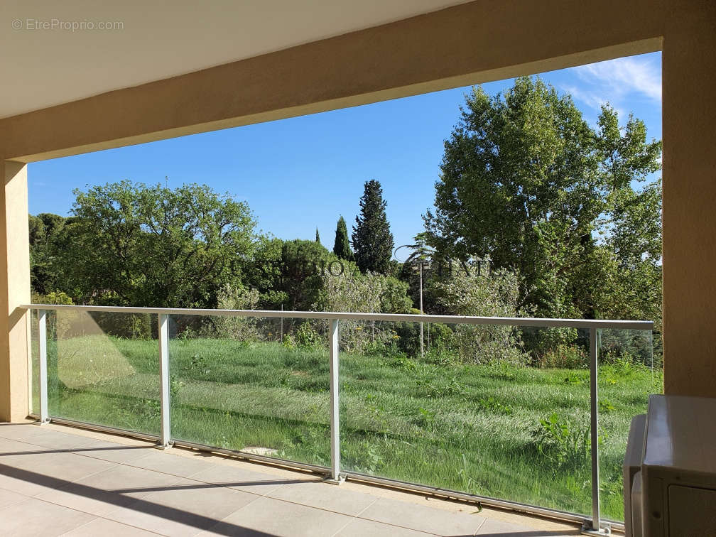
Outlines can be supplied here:
[[27, 308], [40, 420], [593, 528], [662, 390], [649, 321]]

